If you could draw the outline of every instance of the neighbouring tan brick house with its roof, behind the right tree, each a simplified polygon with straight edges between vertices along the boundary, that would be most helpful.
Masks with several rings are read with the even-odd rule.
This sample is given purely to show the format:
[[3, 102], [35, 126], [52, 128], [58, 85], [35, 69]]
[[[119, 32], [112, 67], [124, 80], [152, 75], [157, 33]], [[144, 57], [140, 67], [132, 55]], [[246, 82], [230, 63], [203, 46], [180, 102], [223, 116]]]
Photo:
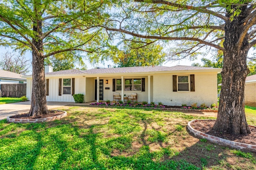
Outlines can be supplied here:
[[256, 107], [256, 74], [245, 79], [244, 100], [247, 106]]

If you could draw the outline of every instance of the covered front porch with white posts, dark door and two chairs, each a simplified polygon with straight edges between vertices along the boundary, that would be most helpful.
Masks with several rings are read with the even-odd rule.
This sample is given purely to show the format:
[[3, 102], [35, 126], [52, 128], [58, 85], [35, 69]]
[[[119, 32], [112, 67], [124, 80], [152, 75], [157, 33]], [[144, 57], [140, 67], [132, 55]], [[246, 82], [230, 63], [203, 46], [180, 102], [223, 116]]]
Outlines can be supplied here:
[[86, 77], [85, 84], [85, 102], [113, 101], [114, 93], [120, 94], [119, 100], [123, 102], [130, 100], [128, 96], [134, 93], [138, 102], [153, 102], [153, 76], [150, 75]]

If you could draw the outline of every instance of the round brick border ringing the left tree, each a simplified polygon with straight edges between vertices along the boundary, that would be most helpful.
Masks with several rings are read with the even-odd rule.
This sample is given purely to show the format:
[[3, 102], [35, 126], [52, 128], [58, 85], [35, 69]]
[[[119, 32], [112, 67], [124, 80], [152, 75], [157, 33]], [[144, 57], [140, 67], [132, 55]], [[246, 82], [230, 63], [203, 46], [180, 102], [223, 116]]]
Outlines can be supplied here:
[[[13, 123], [40, 123], [40, 122], [44, 122], [44, 121], [58, 120], [58, 119], [61, 119], [61, 118], [67, 116], [66, 111], [63, 111], [63, 110], [54, 110], [54, 111], [62, 111], [63, 114], [57, 115], [57, 116], [52, 116], [52, 117], [40, 118], [40, 119], [14, 119], [14, 118], [10, 118], [10, 117], [15, 116], [15, 115], [11, 115], [11, 116], [8, 116], [6, 118], [6, 120], [8, 122], [13, 122]], [[20, 114], [16, 114], [16, 115], [20, 115]]]

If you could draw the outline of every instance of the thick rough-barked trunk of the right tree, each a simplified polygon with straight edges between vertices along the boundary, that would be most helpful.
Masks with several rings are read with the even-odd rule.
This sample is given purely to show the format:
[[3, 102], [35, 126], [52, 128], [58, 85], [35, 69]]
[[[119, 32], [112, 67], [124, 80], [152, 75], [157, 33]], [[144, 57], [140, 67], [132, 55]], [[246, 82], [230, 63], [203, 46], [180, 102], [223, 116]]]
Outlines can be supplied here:
[[[246, 64], [249, 43], [244, 41], [241, 47], [237, 43], [244, 29], [243, 16], [246, 15], [243, 13], [246, 12], [246, 6], [241, 9], [242, 14], [225, 25], [222, 88], [218, 116], [213, 127], [216, 131], [234, 135], [250, 133], [244, 111], [245, 79], [249, 73]], [[228, 13], [226, 16], [230, 17]]]

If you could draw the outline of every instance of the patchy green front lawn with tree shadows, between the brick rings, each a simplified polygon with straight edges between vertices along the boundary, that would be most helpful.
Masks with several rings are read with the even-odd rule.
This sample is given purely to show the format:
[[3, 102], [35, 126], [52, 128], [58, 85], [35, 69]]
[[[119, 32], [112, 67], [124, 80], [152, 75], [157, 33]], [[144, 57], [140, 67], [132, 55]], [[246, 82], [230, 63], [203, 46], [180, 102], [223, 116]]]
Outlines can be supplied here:
[[0, 169], [256, 169], [254, 153], [199, 140], [188, 133], [188, 121], [215, 119], [202, 113], [78, 106], [59, 109], [68, 116], [53, 122], [0, 121]]

